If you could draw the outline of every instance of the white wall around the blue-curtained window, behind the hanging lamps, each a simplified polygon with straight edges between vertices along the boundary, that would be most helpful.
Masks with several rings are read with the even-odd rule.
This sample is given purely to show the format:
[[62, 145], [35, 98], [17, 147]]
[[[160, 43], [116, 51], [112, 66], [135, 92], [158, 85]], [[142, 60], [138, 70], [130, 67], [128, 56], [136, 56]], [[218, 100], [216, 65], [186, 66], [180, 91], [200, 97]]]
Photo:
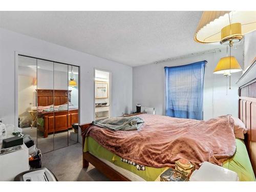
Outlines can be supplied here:
[[[232, 49], [234, 55], [243, 68], [242, 46]], [[191, 50], [193, 52], [193, 50]], [[204, 79], [204, 119], [225, 114], [238, 116], [238, 87], [235, 82], [241, 72], [231, 75], [231, 90], [226, 95], [226, 78], [223, 75], [213, 74], [217, 62], [226, 56], [226, 49], [222, 52], [207, 53], [187, 57], [179, 60], [162, 62], [133, 68], [133, 111], [136, 111], [137, 102], [142, 106], [154, 107], [156, 114], [165, 115], [165, 82], [164, 67], [181, 66], [189, 63], [207, 60]]]

